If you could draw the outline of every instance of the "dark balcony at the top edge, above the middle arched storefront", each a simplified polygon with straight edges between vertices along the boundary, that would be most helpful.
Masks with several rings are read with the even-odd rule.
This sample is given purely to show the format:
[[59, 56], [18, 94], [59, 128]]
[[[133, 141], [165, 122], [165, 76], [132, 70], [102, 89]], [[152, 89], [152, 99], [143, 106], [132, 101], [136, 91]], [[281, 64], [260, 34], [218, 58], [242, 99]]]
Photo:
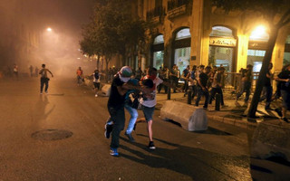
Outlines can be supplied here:
[[168, 16], [174, 18], [181, 14], [186, 14], [189, 9], [189, 0], [171, 0], [168, 2]]

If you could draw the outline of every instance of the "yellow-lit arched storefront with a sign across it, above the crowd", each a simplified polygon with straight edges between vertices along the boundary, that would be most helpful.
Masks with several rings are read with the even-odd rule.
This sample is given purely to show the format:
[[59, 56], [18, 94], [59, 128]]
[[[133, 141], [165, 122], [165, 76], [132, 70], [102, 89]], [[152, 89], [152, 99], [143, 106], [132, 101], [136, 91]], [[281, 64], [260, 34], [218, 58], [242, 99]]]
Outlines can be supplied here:
[[208, 65], [236, 71], [235, 52], [237, 40], [233, 31], [224, 26], [214, 26], [209, 34]]

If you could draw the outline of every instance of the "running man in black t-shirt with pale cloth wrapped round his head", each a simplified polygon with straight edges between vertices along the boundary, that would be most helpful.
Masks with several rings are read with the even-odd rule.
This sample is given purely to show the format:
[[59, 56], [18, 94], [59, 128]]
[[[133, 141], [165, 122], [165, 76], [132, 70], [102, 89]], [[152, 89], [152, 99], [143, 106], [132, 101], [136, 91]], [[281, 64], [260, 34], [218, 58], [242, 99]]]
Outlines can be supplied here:
[[108, 100], [110, 118], [105, 125], [105, 137], [110, 138], [111, 135], [111, 156], [119, 156], [120, 132], [124, 129], [125, 124], [124, 104], [126, 93], [128, 90], [140, 90], [140, 86], [134, 86], [127, 83], [131, 80], [131, 74], [131, 68], [124, 66], [111, 82], [111, 92]]

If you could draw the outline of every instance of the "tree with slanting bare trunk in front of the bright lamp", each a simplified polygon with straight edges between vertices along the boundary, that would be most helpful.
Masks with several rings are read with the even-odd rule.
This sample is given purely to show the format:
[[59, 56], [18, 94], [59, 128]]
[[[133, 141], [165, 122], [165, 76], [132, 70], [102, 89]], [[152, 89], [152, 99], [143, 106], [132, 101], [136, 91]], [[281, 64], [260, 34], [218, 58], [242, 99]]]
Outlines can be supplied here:
[[247, 113], [247, 117], [256, 118], [256, 109], [260, 95], [266, 80], [266, 72], [271, 62], [275, 41], [279, 30], [290, 23], [290, 3], [289, 0], [211, 0], [212, 5], [225, 10], [241, 11], [243, 15], [250, 15], [263, 18], [269, 27], [269, 41], [267, 43], [266, 55], [262, 68], [256, 81], [256, 90]]

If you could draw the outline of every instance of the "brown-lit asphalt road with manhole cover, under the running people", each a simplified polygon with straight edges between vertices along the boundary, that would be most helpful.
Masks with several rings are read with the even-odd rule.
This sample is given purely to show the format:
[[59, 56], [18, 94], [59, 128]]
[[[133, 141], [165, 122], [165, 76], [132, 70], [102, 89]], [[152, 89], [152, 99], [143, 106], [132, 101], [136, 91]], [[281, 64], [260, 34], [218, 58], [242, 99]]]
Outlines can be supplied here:
[[156, 110], [157, 149], [147, 148], [139, 124], [136, 143], [122, 131], [120, 157], [111, 157], [108, 98], [73, 79], [53, 78], [48, 95], [39, 94], [37, 78], [0, 80], [0, 100], [0, 180], [252, 180], [251, 133], [243, 129], [209, 121], [206, 132], [189, 132]]

